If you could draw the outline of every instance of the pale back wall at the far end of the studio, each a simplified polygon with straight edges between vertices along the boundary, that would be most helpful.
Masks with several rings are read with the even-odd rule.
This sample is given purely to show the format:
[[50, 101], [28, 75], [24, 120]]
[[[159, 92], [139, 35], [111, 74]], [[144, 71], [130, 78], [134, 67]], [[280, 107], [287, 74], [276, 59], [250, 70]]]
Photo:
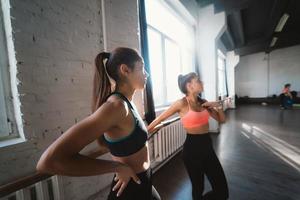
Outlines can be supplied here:
[[300, 91], [300, 45], [261, 52], [240, 58], [235, 69], [238, 96], [267, 97], [279, 95], [285, 83]]

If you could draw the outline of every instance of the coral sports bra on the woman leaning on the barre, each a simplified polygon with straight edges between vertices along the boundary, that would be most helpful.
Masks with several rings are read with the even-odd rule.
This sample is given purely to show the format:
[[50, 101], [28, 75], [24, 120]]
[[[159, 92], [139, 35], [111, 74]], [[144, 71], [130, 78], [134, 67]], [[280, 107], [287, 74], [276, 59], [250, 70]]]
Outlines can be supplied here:
[[206, 109], [199, 112], [193, 111], [187, 98], [186, 100], [189, 105], [189, 111], [183, 117], [181, 117], [183, 127], [186, 129], [197, 128], [208, 124], [208, 119], [210, 116], [208, 111]]

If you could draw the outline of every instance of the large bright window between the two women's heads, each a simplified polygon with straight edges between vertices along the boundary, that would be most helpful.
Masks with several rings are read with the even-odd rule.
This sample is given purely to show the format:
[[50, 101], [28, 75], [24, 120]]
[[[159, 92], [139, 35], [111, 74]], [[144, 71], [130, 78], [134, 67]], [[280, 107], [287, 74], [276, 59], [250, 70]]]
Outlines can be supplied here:
[[153, 98], [157, 108], [182, 96], [177, 77], [195, 71], [195, 36], [193, 26], [163, 1], [146, 1], [146, 18]]

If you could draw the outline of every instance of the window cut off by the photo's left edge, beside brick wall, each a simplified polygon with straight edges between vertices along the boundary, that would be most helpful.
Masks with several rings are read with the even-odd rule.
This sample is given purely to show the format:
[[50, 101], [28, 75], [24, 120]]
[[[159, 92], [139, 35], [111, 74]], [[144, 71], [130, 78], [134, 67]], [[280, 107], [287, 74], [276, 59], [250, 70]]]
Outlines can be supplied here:
[[[17, 121], [22, 124], [21, 115], [14, 116], [16, 111], [20, 113], [20, 107], [8, 4], [9, 1], [0, 2], [0, 147], [2, 141], [19, 137], [16, 124]], [[13, 87], [12, 82], [15, 83]], [[4, 146], [8, 144], [12, 143], [3, 143]]]

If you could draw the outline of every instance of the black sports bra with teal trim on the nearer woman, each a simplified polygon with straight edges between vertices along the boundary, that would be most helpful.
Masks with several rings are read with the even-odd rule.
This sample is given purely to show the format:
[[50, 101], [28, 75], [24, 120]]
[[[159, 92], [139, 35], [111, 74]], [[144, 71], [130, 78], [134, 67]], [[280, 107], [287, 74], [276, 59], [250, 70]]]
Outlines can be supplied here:
[[133, 115], [135, 125], [133, 131], [125, 137], [119, 139], [110, 139], [105, 134], [102, 137], [112, 155], [119, 157], [129, 156], [138, 152], [145, 146], [148, 131], [140, 115], [123, 94], [119, 92], [113, 92], [108, 97], [111, 95], [117, 95], [127, 103]]

